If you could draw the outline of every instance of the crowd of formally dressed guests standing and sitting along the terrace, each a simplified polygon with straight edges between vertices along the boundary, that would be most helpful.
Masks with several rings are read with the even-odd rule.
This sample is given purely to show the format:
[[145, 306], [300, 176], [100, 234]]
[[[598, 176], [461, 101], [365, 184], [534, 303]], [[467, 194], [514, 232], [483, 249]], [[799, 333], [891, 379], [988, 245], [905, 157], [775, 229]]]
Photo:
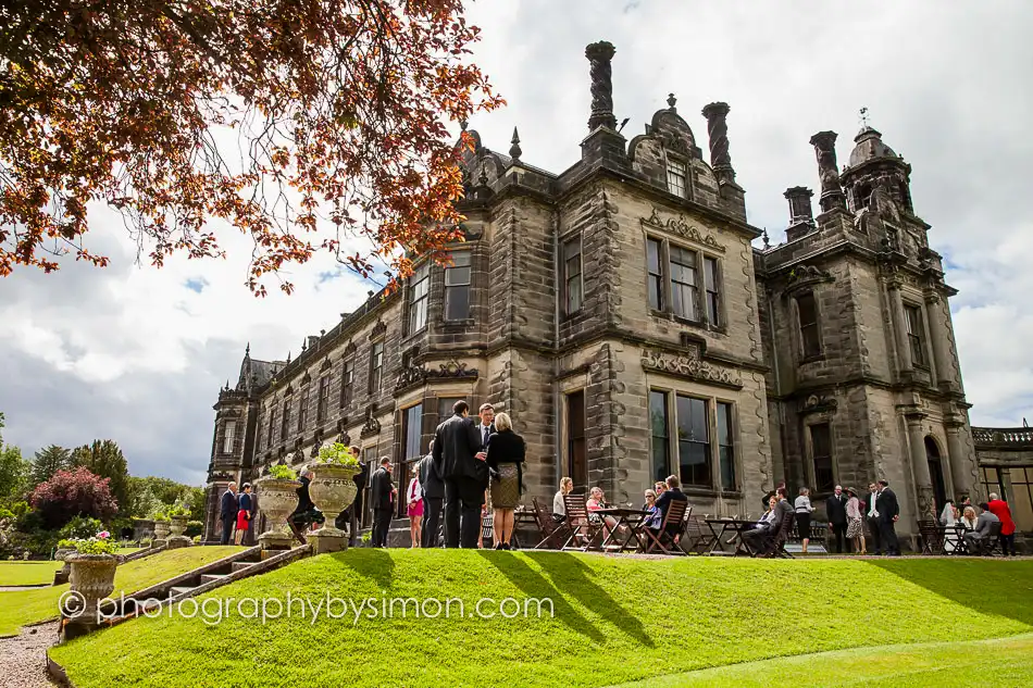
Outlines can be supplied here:
[[[351, 448], [359, 455], [359, 448]], [[406, 491], [406, 514], [409, 517], [411, 547], [435, 548], [441, 545], [441, 522], [444, 520], [444, 545], [446, 548], [481, 548], [482, 520], [487, 514], [486, 504], [490, 502], [493, 547], [509, 550], [513, 547], [515, 527], [514, 511], [520, 504], [524, 491], [523, 464], [525, 461], [523, 438], [513, 430], [512, 420], [506, 413], [495, 413], [495, 408], [485, 403], [478, 409], [476, 420], [470, 414], [465, 401], [457, 401], [452, 415], [445, 420], [434, 434], [430, 451], [419, 460], [413, 470]], [[389, 458], [379, 459], [379, 465], [369, 474], [370, 466], [361, 464], [361, 472], [354, 476], [357, 497], [354, 502], [338, 516], [336, 526], [348, 527], [350, 545], [356, 545], [359, 515], [362, 513], [363, 489], [369, 483], [370, 501], [373, 511], [371, 540], [373, 547], [387, 547], [387, 536], [396, 511], [398, 489], [391, 479], [393, 463]], [[289, 518], [295, 531], [300, 535], [306, 527], [323, 523], [323, 516], [309, 498], [311, 472], [302, 470], [298, 489], [298, 506]], [[569, 476], [560, 480], [559, 490], [552, 500], [552, 517], [556, 522], [567, 521], [564, 497], [574, 489]], [[231, 484], [223, 495], [220, 518], [223, 523], [222, 541], [227, 543], [231, 534], [237, 545], [241, 542], [254, 517], [254, 501], [250, 495], [250, 484], [245, 484], [238, 495], [236, 485]], [[652, 489], [645, 491], [642, 505], [640, 526], [652, 530], [658, 538], [676, 539], [681, 524], [668, 524], [661, 533], [668, 508], [673, 501], [687, 501], [675, 475], [658, 481]], [[586, 508], [588, 518], [598, 524], [607, 536], [626, 528], [610, 514], [598, 513], [610, 504], [600, 487], [588, 492]], [[764, 495], [763, 515], [751, 528], [742, 534], [744, 542], [752, 552], [769, 551], [768, 547], [782, 529], [788, 514], [795, 517], [797, 534], [802, 552], [806, 554], [812, 534], [811, 518], [817, 506], [811, 503], [810, 490], [799, 489], [791, 503], [785, 483]], [[1015, 555], [1015, 522], [1007, 502], [992, 493], [990, 501], [979, 504], [979, 510], [968, 499], [959, 505], [948, 500], [941, 523], [954, 527], [957, 535], [948, 535], [946, 551], [955, 551], [963, 542], [966, 551], [982, 552], [993, 537], [998, 537], [1005, 555]], [[889, 556], [900, 555], [900, 546], [896, 534], [896, 524], [900, 517], [897, 497], [886, 479], [880, 479], [868, 486], [862, 496], [852, 487], [835, 486], [825, 500], [825, 514], [829, 525], [830, 546], [835, 553], [868, 554]], [[444, 518], [443, 518], [444, 517]], [[999, 523], [999, 534], [996, 531]], [[577, 524], [570, 524], [577, 525]]]

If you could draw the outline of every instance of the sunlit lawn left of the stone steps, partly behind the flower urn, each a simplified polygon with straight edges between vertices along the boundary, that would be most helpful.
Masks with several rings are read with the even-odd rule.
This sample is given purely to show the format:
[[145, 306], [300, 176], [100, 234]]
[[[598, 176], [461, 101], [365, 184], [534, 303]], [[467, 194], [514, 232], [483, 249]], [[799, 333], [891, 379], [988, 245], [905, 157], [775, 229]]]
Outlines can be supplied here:
[[[115, 571], [115, 589], [112, 596], [117, 596], [121, 591], [142, 590], [190, 568], [227, 556], [238, 549], [236, 547], [185, 547], [128, 562]], [[50, 570], [50, 575], [52, 578], [53, 568]], [[55, 618], [58, 598], [67, 589], [69, 586], [65, 584], [37, 590], [0, 592], [0, 637], [17, 635], [17, 629], [26, 624]]]

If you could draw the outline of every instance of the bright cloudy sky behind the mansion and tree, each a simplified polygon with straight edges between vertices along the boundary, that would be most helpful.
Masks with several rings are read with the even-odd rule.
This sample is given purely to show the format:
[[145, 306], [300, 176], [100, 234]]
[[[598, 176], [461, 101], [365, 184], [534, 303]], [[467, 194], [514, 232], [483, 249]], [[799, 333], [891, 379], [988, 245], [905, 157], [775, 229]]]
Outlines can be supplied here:
[[[476, 60], [508, 107], [471, 123], [552, 171], [587, 133], [586, 43], [610, 40], [614, 109], [642, 132], [669, 92], [706, 147], [698, 114], [732, 107], [729, 136], [752, 224], [782, 240], [786, 187], [818, 188], [807, 141], [839, 133], [841, 163], [867, 107], [911, 163], [914, 208], [947, 260], [964, 386], [974, 425], [1033, 418], [1033, 5], [1009, 1], [711, 3], [685, 0], [499, 0], [471, 5], [484, 30]], [[1023, 66], [1025, 65], [1025, 66]], [[136, 475], [200, 484], [219, 388], [257, 358], [298, 352], [365, 298], [358, 278], [315, 261], [298, 289], [254, 299], [249, 247], [225, 261], [134, 264], [121, 222], [94, 217], [105, 270], [21, 270], [0, 280], [0, 410], [4, 438], [41, 446], [115, 439]]]

